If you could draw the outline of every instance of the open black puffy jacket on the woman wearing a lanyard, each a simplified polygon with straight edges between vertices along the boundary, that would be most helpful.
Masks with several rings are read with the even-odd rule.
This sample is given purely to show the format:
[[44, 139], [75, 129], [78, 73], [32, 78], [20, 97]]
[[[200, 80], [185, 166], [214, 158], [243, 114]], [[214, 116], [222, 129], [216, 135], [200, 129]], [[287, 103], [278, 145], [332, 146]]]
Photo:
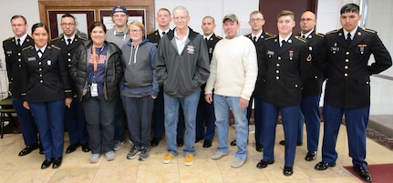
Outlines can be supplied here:
[[[121, 51], [119, 47], [113, 43], [105, 41], [104, 44], [108, 46], [104, 97], [108, 102], [111, 102], [119, 97], [119, 81], [121, 76], [123, 76]], [[69, 69], [77, 90], [79, 101], [90, 97], [88, 86], [88, 55], [92, 46], [91, 40], [80, 44], [72, 57], [72, 64]]]

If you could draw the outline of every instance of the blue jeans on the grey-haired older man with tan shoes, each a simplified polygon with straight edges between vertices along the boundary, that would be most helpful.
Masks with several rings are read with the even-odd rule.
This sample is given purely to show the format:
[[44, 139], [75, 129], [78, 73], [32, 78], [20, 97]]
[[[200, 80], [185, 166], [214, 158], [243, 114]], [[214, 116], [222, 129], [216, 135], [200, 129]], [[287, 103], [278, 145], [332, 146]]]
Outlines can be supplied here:
[[200, 87], [186, 97], [171, 97], [164, 93], [165, 137], [168, 143], [167, 150], [173, 155], [177, 154], [176, 129], [179, 122], [179, 104], [183, 109], [186, 127], [183, 153], [195, 154], [193, 145], [195, 143], [196, 113], [200, 95]]

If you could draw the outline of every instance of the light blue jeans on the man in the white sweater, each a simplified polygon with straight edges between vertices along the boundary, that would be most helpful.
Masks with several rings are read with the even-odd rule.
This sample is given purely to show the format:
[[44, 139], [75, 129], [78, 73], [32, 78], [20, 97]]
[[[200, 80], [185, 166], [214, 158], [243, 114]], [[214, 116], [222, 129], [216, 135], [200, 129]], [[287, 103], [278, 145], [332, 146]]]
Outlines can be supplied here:
[[236, 128], [236, 145], [238, 147], [235, 158], [245, 160], [247, 158], [248, 120], [247, 108], [239, 107], [240, 97], [224, 97], [213, 95], [215, 125], [217, 126], [217, 151], [227, 153], [228, 148], [228, 127], [229, 109], [231, 108], [234, 117], [234, 127]]

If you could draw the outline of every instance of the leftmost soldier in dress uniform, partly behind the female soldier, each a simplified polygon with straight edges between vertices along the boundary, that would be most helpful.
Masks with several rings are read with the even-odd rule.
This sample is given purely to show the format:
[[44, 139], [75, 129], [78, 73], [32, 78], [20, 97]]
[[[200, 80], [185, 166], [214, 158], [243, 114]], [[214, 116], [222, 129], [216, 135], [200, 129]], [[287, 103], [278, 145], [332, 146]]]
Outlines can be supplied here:
[[[28, 25], [23, 15], [12, 16], [10, 22], [15, 36], [5, 39], [3, 41], [3, 48], [5, 51], [9, 92], [12, 96], [13, 107], [16, 109], [17, 118], [19, 119], [20, 128], [26, 145], [18, 155], [25, 156], [40, 147], [34, 118], [30, 110], [23, 107], [23, 98], [21, 97], [20, 91], [22, 48], [34, 45], [34, 41], [26, 33]], [[40, 153], [44, 154], [42, 149], [40, 149]]]

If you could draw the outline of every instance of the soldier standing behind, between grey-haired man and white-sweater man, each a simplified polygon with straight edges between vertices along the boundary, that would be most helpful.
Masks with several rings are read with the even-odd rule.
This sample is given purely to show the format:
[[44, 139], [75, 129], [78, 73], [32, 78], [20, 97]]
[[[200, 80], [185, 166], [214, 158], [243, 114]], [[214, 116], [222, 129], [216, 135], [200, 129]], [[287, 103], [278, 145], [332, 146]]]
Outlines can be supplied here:
[[[206, 41], [207, 50], [209, 53], [209, 60], [212, 61], [212, 52], [214, 51], [214, 46], [222, 39], [221, 36], [216, 36], [214, 34], [215, 22], [214, 18], [210, 15], [204, 16], [202, 19], [202, 30], [203, 38]], [[214, 107], [213, 104], [209, 104], [204, 99], [204, 87], [201, 86], [201, 97], [198, 105], [197, 112], [197, 126], [196, 126], [196, 139], [195, 142], [199, 140], [203, 141], [203, 147], [212, 147], [212, 138], [214, 137], [215, 131], [215, 117], [214, 117]], [[205, 127], [206, 125], [206, 132]]]

